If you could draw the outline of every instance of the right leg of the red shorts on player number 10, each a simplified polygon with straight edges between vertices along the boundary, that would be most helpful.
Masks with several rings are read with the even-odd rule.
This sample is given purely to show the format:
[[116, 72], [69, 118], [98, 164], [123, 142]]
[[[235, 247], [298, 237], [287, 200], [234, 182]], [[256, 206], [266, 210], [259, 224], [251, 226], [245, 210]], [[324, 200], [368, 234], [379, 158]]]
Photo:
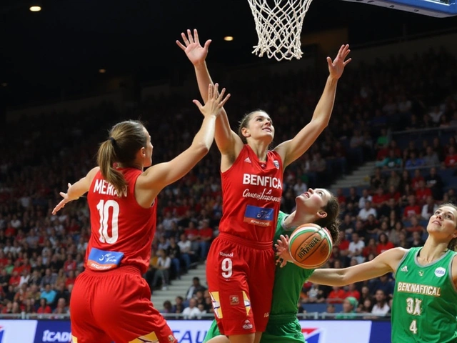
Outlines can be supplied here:
[[176, 342], [164, 317], [153, 307], [151, 291], [141, 275], [112, 279], [101, 284], [97, 294], [94, 317], [115, 342]]

